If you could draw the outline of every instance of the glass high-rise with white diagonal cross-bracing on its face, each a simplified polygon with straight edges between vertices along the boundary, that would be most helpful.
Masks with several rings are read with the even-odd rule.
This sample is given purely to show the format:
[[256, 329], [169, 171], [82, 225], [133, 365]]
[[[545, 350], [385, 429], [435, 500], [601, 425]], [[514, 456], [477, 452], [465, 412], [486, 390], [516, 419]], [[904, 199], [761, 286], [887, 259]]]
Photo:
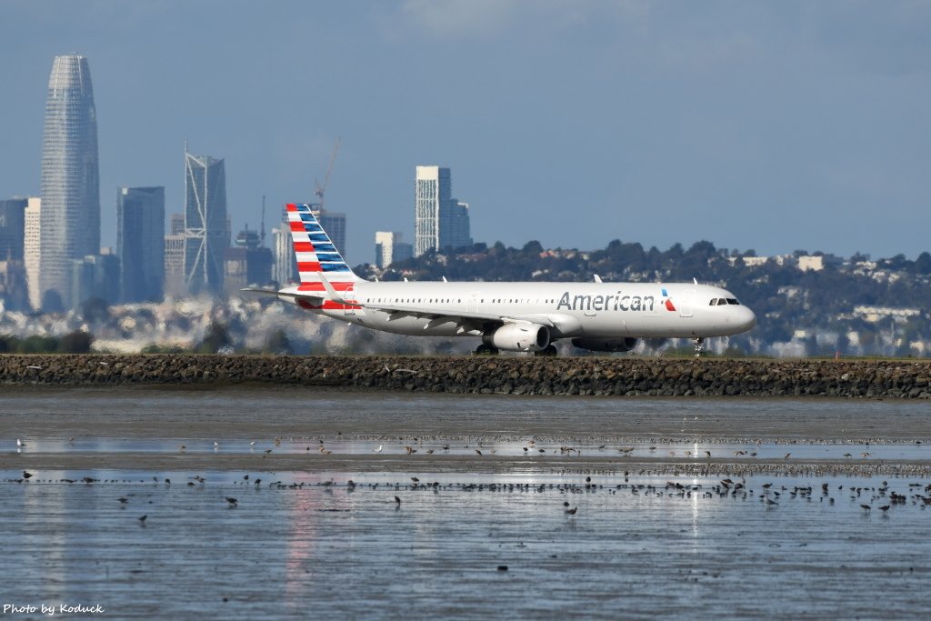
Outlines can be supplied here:
[[184, 283], [191, 293], [223, 290], [229, 246], [223, 160], [184, 153]]

